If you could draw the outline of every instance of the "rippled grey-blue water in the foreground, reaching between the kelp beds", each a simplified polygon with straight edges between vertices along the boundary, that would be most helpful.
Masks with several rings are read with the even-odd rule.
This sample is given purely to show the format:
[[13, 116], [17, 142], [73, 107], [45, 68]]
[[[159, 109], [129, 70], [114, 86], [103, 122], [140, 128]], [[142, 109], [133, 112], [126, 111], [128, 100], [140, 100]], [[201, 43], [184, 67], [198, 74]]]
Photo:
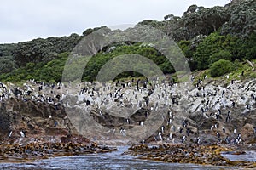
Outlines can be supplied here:
[[212, 167], [194, 164], [143, 161], [133, 156], [122, 156], [127, 147], [118, 151], [84, 156], [54, 157], [26, 163], [2, 163], [0, 169], [239, 169], [234, 167]]

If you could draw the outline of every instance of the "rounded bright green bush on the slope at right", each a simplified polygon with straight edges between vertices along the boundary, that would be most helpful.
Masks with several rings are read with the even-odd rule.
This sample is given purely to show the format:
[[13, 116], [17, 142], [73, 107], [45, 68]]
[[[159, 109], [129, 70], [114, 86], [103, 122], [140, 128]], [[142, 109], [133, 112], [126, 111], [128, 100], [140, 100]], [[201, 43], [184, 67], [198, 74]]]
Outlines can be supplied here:
[[210, 67], [212, 77], [220, 77], [234, 70], [234, 65], [229, 60], [219, 59]]

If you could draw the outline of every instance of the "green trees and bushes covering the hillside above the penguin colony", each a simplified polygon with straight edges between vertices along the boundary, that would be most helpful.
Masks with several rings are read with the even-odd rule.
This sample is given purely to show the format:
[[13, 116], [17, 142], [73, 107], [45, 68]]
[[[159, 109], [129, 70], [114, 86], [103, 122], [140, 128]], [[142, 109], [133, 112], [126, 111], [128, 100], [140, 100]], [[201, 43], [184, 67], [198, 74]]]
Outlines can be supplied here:
[[[256, 59], [255, 8], [256, 3], [253, 0], [232, 1], [225, 8], [191, 5], [182, 17], [168, 14], [164, 21], [143, 20], [139, 24], [152, 26], [172, 37], [187, 58], [191, 71], [209, 69], [206, 71], [208, 76], [219, 77], [230, 73], [230, 77], [235, 78], [241, 71], [246, 71], [246, 77], [256, 77], [255, 72], [250, 71], [250, 66], [241, 64], [247, 59]], [[174, 73], [173, 65], [177, 65], [179, 59], [174, 59], [174, 63], [170, 64], [169, 60], [154, 48], [154, 44], [151, 46], [149, 43], [122, 40], [122, 37], [127, 35], [140, 35], [144, 39], [151, 36], [160, 37], [160, 34], [148, 35], [146, 27], [136, 30], [139, 24], [125, 31], [111, 31], [102, 26], [87, 29], [81, 36], [71, 34], [69, 37], [38, 38], [30, 42], [0, 44], [0, 81], [61, 81], [64, 65], [73, 48], [84, 37], [90, 38], [90, 33], [95, 31], [99, 32], [96, 34], [97, 39], [91, 40], [94, 44], [77, 49], [78, 56], [73, 59], [73, 65], [67, 66], [70, 73], [65, 73], [65, 77], [76, 79], [79, 75], [73, 73], [84, 69], [83, 64], [88, 61], [82, 80], [93, 81], [103, 65], [124, 54], [142, 55], [158, 65], [163, 73]], [[102, 35], [119, 41], [104, 46]], [[172, 48], [165, 50], [177, 53]], [[93, 57], [88, 60], [90, 54], [93, 54]], [[115, 65], [112, 69], [115, 69]], [[138, 72], [125, 71], [116, 78], [140, 76], [142, 75]]]

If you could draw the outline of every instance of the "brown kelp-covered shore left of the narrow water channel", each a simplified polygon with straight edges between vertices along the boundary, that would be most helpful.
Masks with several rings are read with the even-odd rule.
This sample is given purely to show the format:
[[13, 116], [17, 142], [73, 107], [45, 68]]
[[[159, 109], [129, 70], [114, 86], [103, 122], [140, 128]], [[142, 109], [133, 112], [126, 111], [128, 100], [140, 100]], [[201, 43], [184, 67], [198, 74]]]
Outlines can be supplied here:
[[55, 156], [78, 156], [84, 154], [96, 154], [111, 152], [116, 148], [108, 146], [98, 146], [96, 143], [42, 143], [35, 142], [30, 144], [1, 144], [1, 162], [24, 162], [39, 159], [48, 159]]

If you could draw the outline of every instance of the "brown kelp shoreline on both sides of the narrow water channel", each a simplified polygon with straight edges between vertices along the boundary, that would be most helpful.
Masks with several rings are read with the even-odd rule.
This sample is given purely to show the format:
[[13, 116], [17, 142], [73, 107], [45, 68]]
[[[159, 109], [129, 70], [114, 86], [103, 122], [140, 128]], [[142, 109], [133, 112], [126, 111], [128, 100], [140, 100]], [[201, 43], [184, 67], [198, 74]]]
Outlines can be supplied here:
[[[126, 146], [128, 146], [126, 144]], [[39, 142], [29, 144], [1, 144], [0, 163], [25, 163], [62, 156], [80, 156], [117, 151], [117, 145], [98, 145], [95, 142]], [[226, 144], [133, 144], [122, 155], [134, 159], [195, 165], [255, 168], [256, 161], [230, 161], [222, 153], [243, 155], [255, 151], [248, 147]]]

